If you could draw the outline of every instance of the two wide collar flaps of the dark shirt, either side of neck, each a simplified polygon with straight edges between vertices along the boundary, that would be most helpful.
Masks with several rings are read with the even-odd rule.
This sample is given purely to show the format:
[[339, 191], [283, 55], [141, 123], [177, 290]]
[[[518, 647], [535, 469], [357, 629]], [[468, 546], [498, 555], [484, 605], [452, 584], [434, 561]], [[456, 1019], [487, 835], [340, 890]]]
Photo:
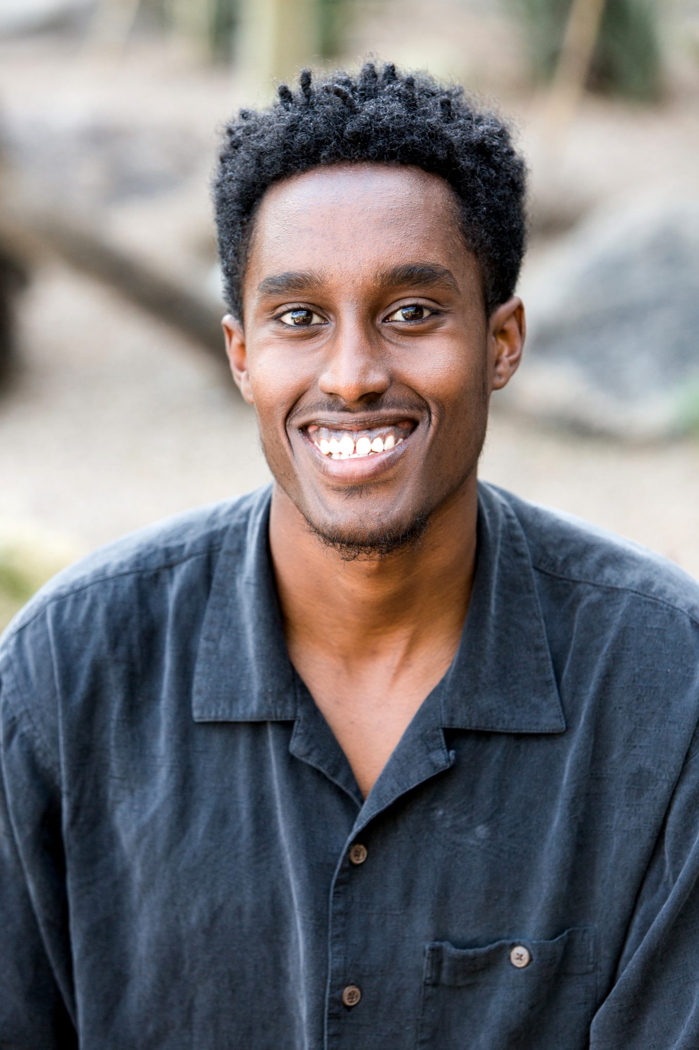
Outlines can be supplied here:
[[[296, 677], [269, 561], [270, 492], [262, 489], [239, 505], [218, 558], [194, 674], [196, 721], [297, 717]], [[529, 547], [504, 497], [482, 483], [477, 550], [461, 644], [439, 687], [442, 724], [562, 733], [566, 723]]]

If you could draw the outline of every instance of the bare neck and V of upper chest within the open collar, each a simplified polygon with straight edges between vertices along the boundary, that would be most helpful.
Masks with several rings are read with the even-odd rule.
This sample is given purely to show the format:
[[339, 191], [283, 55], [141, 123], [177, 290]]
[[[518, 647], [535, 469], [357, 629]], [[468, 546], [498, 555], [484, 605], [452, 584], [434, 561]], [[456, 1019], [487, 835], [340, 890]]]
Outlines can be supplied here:
[[365, 797], [459, 647], [477, 506], [474, 478], [432, 516], [419, 549], [343, 563], [309, 538], [285, 494], [272, 499], [270, 551], [289, 657]]

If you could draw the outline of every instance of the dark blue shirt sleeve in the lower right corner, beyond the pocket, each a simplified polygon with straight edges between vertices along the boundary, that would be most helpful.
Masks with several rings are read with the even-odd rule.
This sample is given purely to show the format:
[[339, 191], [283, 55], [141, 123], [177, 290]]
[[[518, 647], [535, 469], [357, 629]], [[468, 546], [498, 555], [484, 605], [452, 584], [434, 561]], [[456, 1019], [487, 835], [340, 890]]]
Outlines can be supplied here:
[[699, 754], [684, 764], [590, 1050], [699, 1047]]

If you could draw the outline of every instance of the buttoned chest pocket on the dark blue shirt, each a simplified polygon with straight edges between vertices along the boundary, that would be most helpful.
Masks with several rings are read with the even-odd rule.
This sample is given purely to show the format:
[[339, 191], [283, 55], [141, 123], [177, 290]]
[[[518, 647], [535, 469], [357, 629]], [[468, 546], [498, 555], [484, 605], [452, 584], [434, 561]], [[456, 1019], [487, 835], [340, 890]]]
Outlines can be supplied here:
[[577, 1050], [595, 1007], [590, 926], [553, 941], [425, 947], [419, 1050]]

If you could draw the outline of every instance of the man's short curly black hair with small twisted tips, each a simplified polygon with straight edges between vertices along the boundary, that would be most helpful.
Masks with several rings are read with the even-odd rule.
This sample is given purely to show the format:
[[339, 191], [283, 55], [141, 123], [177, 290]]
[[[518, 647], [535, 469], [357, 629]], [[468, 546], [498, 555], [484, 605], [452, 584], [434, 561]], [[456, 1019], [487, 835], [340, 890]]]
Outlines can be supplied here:
[[224, 294], [242, 320], [246, 250], [257, 207], [282, 178], [322, 164], [413, 165], [452, 187], [467, 247], [481, 267], [489, 315], [517, 285], [526, 242], [526, 168], [510, 132], [460, 86], [427, 74], [358, 74], [316, 78], [304, 69], [299, 87], [278, 88], [267, 109], [241, 109], [225, 129], [214, 178], [214, 204]]

